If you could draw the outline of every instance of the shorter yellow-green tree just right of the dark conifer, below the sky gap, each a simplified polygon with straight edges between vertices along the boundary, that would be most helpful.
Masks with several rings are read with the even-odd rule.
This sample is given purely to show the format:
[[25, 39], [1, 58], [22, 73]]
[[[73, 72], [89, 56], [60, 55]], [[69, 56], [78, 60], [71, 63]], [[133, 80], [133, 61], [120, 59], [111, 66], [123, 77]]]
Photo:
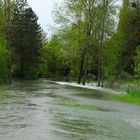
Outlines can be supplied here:
[[50, 42], [44, 44], [44, 64], [41, 65], [42, 74], [54, 79], [62, 79], [65, 58], [58, 37], [55, 35]]

